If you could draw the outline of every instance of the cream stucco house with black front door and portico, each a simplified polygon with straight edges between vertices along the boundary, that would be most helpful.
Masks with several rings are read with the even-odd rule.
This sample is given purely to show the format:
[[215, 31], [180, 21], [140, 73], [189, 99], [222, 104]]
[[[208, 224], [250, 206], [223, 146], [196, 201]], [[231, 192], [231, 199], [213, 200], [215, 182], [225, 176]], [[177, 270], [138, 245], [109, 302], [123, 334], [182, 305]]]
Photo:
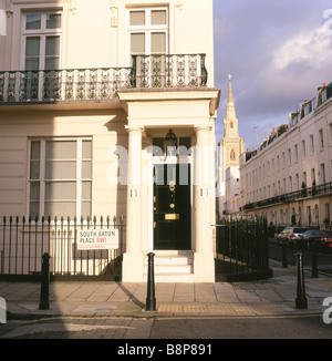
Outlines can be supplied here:
[[48, 250], [95, 275], [112, 252], [141, 282], [154, 252], [158, 281], [214, 282], [212, 0], [0, 0], [0, 272]]

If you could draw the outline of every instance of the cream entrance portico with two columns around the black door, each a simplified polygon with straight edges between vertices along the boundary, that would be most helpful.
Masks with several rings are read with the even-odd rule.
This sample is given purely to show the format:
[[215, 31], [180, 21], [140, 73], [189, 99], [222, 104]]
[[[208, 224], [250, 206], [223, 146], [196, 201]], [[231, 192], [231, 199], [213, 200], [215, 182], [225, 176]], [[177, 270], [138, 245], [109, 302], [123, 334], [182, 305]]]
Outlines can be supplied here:
[[[128, 133], [123, 281], [145, 281], [146, 255], [163, 249], [188, 250], [194, 255], [191, 281], [214, 282], [211, 225], [219, 90], [123, 91], [118, 96], [126, 110]], [[187, 156], [154, 154], [154, 137], [166, 136], [169, 128], [191, 140]], [[163, 172], [164, 182], [157, 178], [156, 169]], [[179, 172], [186, 174], [184, 169], [187, 184], [179, 179]]]

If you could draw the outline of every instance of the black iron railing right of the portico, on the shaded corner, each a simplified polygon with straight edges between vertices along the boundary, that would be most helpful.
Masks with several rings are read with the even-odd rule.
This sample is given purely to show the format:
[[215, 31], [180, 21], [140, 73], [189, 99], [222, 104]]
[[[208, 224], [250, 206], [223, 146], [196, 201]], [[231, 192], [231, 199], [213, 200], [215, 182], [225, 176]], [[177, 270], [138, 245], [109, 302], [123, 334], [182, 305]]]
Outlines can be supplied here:
[[216, 277], [245, 281], [271, 277], [266, 218], [229, 219], [216, 225]]

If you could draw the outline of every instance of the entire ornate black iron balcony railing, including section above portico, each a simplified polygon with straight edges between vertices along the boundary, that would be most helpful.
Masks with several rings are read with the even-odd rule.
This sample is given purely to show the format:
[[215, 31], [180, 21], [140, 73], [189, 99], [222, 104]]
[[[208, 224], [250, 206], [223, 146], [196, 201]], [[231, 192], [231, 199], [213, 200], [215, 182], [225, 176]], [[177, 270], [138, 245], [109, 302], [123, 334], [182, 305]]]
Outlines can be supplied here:
[[124, 89], [207, 85], [205, 54], [134, 55], [132, 68], [0, 71], [0, 104], [106, 101]]

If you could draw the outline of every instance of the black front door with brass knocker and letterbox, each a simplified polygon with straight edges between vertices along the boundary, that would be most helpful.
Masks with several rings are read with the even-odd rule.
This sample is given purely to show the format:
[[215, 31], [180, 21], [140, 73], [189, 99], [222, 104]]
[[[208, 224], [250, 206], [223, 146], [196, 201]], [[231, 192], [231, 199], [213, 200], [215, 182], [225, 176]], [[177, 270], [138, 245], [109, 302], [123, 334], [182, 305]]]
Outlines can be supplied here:
[[190, 249], [190, 165], [154, 167], [154, 249]]

